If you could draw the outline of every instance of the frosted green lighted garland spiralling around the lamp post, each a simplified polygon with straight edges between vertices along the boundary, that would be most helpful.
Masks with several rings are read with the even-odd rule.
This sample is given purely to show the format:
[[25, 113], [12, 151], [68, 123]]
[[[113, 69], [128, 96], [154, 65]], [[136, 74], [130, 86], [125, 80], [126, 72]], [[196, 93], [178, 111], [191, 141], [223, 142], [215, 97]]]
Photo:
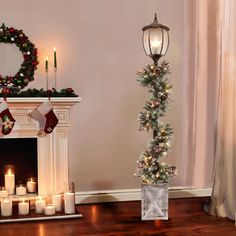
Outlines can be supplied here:
[[170, 101], [171, 85], [166, 78], [170, 73], [169, 64], [163, 62], [158, 65], [147, 65], [138, 71], [138, 83], [149, 88], [149, 99], [139, 113], [140, 130], [153, 130], [153, 139], [147, 149], [137, 161], [135, 176], [142, 178], [149, 184], [168, 183], [176, 175], [176, 167], [168, 165], [162, 160], [170, 150], [173, 130], [169, 124], [160, 120], [167, 111]]

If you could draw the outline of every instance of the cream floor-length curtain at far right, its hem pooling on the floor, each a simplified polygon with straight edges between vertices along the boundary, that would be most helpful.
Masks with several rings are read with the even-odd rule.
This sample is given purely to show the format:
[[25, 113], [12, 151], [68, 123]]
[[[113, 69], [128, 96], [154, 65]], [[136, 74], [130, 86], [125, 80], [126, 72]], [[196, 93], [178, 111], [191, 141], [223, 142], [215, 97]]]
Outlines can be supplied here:
[[236, 1], [219, 1], [221, 47], [214, 183], [210, 213], [235, 220], [236, 211]]

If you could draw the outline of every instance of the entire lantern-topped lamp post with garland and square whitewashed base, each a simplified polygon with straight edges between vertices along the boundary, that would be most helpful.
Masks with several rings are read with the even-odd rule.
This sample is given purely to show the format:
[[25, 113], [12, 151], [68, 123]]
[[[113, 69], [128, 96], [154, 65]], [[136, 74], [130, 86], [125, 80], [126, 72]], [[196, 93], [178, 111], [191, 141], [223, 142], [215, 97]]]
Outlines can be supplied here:
[[172, 87], [168, 81], [169, 64], [158, 65], [158, 60], [164, 56], [169, 46], [169, 28], [157, 21], [144, 26], [143, 48], [154, 64], [146, 65], [138, 71], [138, 83], [149, 90], [148, 100], [143, 110], [139, 112], [140, 130], [153, 131], [153, 138], [137, 161], [135, 175], [142, 178], [141, 206], [142, 220], [168, 219], [168, 182], [176, 175], [176, 167], [163, 162], [170, 150], [173, 134], [171, 125], [162, 122], [168, 108], [169, 90]]

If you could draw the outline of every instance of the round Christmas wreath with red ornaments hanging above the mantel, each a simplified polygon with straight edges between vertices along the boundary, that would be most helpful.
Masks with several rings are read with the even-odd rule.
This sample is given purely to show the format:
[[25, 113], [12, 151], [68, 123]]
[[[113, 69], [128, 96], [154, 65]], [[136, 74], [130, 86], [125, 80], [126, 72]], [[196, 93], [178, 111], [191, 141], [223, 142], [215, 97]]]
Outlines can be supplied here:
[[34, 71], [38, 65], [37, 48], [22, 30], [8, 28], [4, 24], [0, 27], [0, 43], [15, 44], [22, 52], [24, 59], [19, 71], [14, 76], [2, 77], [0, 74], [0, 87], [23, 89], [30, 81], [34, 80]]

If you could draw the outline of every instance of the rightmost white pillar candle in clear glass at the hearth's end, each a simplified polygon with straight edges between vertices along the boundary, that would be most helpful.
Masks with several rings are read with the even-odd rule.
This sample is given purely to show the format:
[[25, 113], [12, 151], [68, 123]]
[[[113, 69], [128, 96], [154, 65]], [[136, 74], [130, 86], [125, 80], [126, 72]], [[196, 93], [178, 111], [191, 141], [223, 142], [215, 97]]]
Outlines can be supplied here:
[[75, 213], [75, 185], [73, 182], [68, 183], [68, 191], [64, 193], [64, 211], [65, 214]]

